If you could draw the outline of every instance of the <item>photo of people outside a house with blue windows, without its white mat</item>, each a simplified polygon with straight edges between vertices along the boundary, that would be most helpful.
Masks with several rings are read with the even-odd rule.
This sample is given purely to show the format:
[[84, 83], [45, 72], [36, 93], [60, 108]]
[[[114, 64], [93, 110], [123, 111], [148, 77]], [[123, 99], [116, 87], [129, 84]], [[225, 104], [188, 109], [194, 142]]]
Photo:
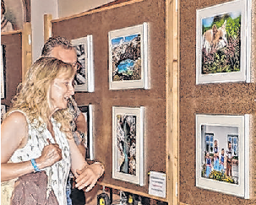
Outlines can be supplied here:
[[201, 127], [201, 143], [204, 148], [201, 176], [210, 180], [238, 184], [238, 127], [211, 125]]

